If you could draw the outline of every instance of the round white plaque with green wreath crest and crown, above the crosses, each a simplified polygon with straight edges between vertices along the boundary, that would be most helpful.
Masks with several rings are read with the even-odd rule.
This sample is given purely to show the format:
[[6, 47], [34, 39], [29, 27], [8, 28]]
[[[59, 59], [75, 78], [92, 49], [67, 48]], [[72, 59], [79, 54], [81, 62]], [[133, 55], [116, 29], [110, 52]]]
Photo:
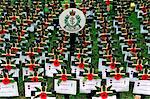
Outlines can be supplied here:
[[85, 26], [86, 18], [82, 11], [69, 8], [59, 16], [60, 27], [69, 33], [77, 33]]

